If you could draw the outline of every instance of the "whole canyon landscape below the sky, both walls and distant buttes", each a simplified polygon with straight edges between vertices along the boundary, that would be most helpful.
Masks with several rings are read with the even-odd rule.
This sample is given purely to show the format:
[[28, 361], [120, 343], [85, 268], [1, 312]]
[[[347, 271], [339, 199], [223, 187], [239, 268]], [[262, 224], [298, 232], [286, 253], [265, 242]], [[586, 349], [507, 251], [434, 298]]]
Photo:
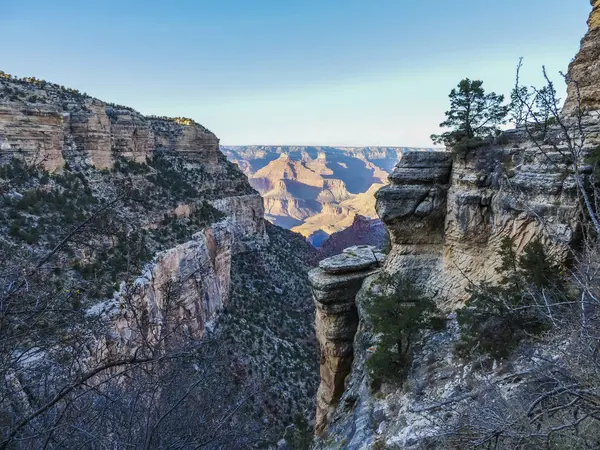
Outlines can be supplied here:
[[221, 146], [0, 72], [0, 449], [596, 448], [590, 3], [562, 111], [462, 153]]

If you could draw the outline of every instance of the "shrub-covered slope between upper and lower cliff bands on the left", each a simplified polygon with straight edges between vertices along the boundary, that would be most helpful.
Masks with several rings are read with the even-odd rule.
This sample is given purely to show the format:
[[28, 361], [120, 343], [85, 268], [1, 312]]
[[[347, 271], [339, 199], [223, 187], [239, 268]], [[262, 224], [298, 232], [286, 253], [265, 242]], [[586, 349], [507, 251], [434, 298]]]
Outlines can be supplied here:
[[[67, 271], [55, 276], [60, 284], [68, 278], [80, 280], [78, 286], [89, 299], [110, 297], [127, 273], [139, 273], [157, 251], [190, 240], [223, 217], [192, 184], [204, 176], [201, 167], [190, 169], [180, 158], [164, 155], [149, 162], [118, 158], [112, 172], [67, 166], [61, 174], [19, 159], [0, 165], [0, 186], [9, 183], [13, 189], [0, 194], [3, 232], [16, 244], [47, 252], [120, 195], [119, 212], [110, 209], [95, 216], [80, 230], [77, 242], [64, 247], [60, 257]], [[102, 182], [92, 183], [98, 177]], [[174, 208], [182, 202], [187, 214], [176, 216]], [[135, 224], [132, 216], [137, 217]], [[160, 226], [146, 229], [143, 218]]]

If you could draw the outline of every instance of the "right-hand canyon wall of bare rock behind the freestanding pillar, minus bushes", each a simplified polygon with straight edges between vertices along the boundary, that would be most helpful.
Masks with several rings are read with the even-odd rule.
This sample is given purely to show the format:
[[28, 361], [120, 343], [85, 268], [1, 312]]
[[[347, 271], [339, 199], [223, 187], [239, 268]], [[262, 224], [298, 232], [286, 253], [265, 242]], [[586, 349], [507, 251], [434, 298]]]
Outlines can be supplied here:
[[[586, 183], [592, 173], [586, 161], [600, 145], [600, 2], [592, 4], [589, 32], [568, 76], [579, 85], [583, 114], [578, 120], [578, 92], [571, 83], [561, 116], [576, 143], [569, 142], [561, 126], [551, 128], [541, 144], [518, 128], [466, 156], [407, 153], [390, 175], [389, 185], [377, 192], [377, 212], [392, 247], [381, 272], [367, 276], [354, 298], [359, 323], [352, 369], [343, 394], [330, 402], [337, 405], [335, 410], [319, 416], [316, 448], [424, 448], [436, 433], [442, 433], [436, 442], [443, 442], [440, 424], [448, 424], [461, 408], [468, 409], [483, 395], [473, 388], [479, 377], [487, 376], [487, 385], [498, 386], [507, 397], [519, 392], [518, 378], [510, 374], [526, 371], [529, 360], [511, 361], [506, 367], [494, 361], [489, 372], [478, 372], [480, 367], [454, 351], [460, 334], [452, 311], [464, 304], [472, 283], [498, 281], [498, 251], [504, 238], [512, 239], [518, 251], [539, 240], [565, 262], [580, 244], [577, 185]], [[582, 135], [585, 139], [579, 140]], [[449, 314], [445, 330], [419, 341], [403, 383], [374, 386], [366, 363], [378, 338], [365, 305], [384, 277], [412, 280]], [[327, 353], [322, 354], [326, 358]], [[322, 377], [321, 383], [328, 380]]]

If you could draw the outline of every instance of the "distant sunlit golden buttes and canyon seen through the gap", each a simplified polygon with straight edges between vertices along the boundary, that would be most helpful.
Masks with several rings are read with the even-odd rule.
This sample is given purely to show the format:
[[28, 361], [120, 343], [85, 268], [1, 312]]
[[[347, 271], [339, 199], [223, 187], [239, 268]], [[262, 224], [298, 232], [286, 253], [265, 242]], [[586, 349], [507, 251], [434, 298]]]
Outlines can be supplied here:
[[[265, 199], [271, 222], [313, 244], [349, 227], [355, 214], [374, 218], [374, 193], [408, 148], [224, 147]], [[413, 149], [415, 150], [415, 149]], [[429, 149], [419, 149], [429, 150]]]

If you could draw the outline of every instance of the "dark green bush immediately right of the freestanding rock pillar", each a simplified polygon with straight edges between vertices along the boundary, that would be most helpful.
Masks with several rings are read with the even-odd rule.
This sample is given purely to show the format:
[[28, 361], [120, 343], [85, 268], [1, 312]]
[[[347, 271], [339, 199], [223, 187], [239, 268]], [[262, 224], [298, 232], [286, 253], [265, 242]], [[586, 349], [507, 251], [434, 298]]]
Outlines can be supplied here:
[[374, 378], [401, 381], [410, 368], [415, 338], [423, 330], [443, 328], [444, 321], [433, 300], [411, 281], [387, 275], [378, 281], [381, 294], [371, 289], [365, 304], [373, 332], [380, 336], [367, 364]]

